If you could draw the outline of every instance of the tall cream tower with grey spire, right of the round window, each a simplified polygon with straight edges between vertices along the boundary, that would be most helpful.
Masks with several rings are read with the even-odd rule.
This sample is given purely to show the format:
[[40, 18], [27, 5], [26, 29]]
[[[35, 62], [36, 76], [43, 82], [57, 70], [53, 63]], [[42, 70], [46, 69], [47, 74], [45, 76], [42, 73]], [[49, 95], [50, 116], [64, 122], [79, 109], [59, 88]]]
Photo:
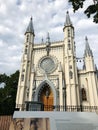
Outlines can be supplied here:
[[64, 24], [64, 51], [65, 51], [65, 80], [66, 80], [66, 104], [79, 105], [77, 99], [77, 66], [76, 66], [76, 50], [74, 42], [74, 27], [69, 17], [66, 14], [66, 21]]

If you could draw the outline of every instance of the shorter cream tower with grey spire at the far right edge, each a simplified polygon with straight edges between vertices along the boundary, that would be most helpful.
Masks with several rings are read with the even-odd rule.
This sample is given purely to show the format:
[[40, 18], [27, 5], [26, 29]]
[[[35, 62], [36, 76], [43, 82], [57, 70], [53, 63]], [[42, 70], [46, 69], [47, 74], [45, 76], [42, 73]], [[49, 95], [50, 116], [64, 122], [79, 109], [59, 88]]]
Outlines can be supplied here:
[[[84, 69], [86, 72], [86, 86], [88, 89], [88, 102], [90, 106], [98, 106], [98, 82], [96, 75], [96, 66], [92, 50], [90, 49], [88, 38], [85, 38], [85, 51], [84, 51]], [[95, 87], [96, 86], [96, 87]], [[86, 91], [87, 91], [86, 89]]]

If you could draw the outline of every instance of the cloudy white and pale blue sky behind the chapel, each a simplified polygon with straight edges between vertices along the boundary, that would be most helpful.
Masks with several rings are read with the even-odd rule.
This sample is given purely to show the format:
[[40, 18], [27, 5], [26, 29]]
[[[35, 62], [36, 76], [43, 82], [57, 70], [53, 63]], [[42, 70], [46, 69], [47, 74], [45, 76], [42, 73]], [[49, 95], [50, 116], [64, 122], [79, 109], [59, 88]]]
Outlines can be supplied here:
[[[84, 9], [93, 0], [86, 0]], [[73, 13], [67, 0], [0, 0], [0, 73], [12, 74], [20, 69], [24, 33], [33, 17], [35, 43], [63, 40], [66, 11], [75, 27], [77, 57], [83, 57], [85, 36], [88, 37], [98, 67], [98, 24], [83, 14], [83, 9]]]

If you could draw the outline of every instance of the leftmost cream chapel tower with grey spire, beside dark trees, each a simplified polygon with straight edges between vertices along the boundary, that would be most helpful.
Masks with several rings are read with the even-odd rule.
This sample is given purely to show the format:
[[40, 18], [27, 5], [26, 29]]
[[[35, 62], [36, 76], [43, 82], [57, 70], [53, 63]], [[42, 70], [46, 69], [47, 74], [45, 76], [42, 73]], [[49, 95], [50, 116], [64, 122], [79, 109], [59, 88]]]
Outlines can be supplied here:
[[[34, 46], [34, 28], [32, 23], [32, 17], [30, 19], [29, 25], [25, 32], [25, 42], [23, 48], [23, 56], [21, 60], [20, 76], [18, 82], [18, 90], [16, 97], [16, 107], [20, 104], [20, 109], [22, 109], [21, 104], [27, 101], [29, 97], [29, 85], [30, 85], [30, 72], [32, 66], [32, 52]], [[19, 106], [18, 106], [19, 107]]]

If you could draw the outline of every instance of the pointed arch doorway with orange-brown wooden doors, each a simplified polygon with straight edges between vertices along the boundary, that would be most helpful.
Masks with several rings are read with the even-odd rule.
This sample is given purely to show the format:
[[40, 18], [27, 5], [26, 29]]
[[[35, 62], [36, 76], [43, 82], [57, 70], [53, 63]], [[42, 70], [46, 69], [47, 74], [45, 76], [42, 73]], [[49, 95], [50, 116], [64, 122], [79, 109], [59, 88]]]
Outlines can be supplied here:
[[38, 101], [44, 104], [44, 111], [53, 111], [54, 97], [49, 84], [45, 83], [38, 93]]

